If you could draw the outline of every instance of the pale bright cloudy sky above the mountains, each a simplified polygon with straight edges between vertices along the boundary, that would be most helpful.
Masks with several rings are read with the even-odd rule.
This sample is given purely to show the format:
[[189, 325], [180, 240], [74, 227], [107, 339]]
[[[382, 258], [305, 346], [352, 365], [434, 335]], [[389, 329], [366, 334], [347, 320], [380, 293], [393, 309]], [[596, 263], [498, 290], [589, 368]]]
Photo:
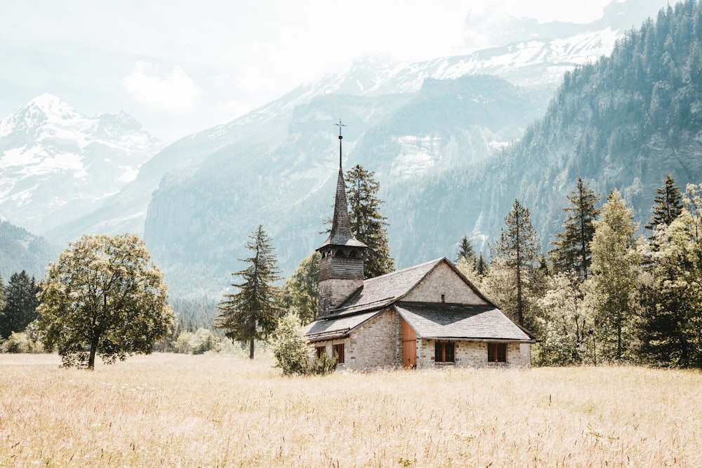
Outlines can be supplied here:
[[609, 0], [2, 0], [0, 118], [43, 93], [173, 142], [355, 58], [494, 46], [501, 15], [590, 22]]

